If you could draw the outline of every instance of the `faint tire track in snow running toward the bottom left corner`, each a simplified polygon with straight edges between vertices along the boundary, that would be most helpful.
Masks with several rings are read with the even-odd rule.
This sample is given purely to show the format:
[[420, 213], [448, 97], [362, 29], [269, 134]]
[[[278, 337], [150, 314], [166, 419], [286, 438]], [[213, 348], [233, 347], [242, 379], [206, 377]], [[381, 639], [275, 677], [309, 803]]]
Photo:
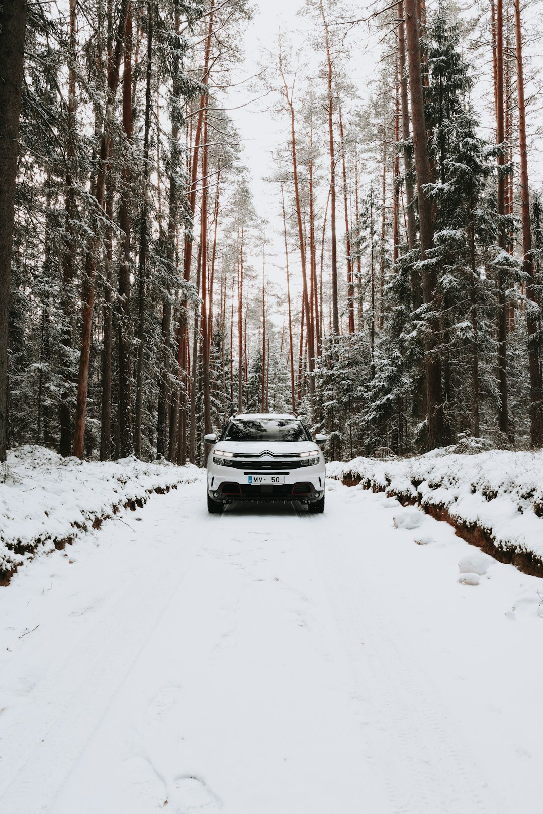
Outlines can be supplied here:
[[19, 707], [25, 718], [32, 711], [33, 727], [28, 737], [16, 739], [16, 749], [2, 755], [4, 814], [48, 810], [194, 562], [187, 556], [186, 567], [177, 571], [166, 552], [164, 562], [159, 550], [155, 554], [152, 566], [139, 568], [68, 656], [50, 666], [28, 706]]

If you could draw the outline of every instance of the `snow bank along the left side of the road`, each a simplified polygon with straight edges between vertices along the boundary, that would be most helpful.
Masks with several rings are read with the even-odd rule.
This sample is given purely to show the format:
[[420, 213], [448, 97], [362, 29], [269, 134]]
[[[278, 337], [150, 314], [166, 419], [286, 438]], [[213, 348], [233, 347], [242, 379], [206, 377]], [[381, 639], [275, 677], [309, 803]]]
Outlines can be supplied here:
[[196, 466], [135, 457], [84, 462], [39, 446], [11, 451], [0, 466], [0, 584], [38, 549], [62, 549], [77, 532], [98, 528], [123, 508], [142, 506], [152, 492], [198, 477]]

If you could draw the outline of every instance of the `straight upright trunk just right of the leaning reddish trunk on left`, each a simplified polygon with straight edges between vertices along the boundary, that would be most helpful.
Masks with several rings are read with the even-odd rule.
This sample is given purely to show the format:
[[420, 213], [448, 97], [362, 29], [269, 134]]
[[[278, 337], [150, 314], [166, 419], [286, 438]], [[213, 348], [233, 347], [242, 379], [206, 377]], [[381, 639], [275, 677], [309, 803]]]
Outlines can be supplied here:
[[125, 31], [125, 59], [123, 71], [123, 130], [125, 133], [122, 187], [120, 193], [119, 225], [124, 237], [121, 242], [119, 263], [119, 456], [127, 457], [134, 453], [131, 420], [131, 358], [132, 347], [130, 324], [130, 186], [132, 156], [132, 2], [128, 3]]

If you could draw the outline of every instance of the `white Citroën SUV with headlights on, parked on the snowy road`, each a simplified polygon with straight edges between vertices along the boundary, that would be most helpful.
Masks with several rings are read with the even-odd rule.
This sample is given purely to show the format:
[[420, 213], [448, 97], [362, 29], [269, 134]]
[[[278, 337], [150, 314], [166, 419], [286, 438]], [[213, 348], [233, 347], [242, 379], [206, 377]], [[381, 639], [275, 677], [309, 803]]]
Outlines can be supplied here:
[[233, 501], [300, 501], [310, 512], [324, 511], [324, 455], [295, 414], [233, 415], [208, 455], [208, 510], [221, 512]]

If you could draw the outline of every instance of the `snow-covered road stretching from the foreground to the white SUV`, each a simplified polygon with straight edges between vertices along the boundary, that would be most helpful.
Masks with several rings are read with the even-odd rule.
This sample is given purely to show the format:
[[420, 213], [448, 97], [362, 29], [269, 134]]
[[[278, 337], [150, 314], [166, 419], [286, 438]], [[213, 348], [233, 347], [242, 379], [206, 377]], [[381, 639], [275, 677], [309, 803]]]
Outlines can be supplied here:
[[540, 814], [543, 580], [462, 584], [444, 523], [326, 501], [190, 484], [15, 575], [2, 814]]

